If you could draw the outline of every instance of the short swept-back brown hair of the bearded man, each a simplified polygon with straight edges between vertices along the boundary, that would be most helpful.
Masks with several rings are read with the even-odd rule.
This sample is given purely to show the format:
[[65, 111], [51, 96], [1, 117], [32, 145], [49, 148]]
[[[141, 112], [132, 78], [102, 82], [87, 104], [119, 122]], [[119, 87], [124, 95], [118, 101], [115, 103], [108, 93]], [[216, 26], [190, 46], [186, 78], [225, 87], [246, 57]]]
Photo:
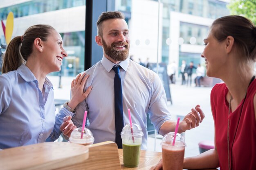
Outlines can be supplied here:
[[124, 14], [119, 12], [119, 11], [108, 11], [108, 12], [103, 12], [101, 15], [99, 15], [98, 21], [97, 21], [97, 31], [99, 36], [103, 36], [102, 33], [102, 22], [105, 20], [109, 19], [125, 19]]

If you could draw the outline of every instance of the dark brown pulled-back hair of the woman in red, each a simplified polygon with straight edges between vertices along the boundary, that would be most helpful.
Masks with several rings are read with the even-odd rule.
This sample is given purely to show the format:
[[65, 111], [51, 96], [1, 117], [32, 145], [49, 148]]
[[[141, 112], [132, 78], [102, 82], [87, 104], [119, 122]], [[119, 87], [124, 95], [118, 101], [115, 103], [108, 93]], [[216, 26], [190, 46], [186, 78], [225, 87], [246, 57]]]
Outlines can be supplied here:
[[216, 19], [212, 26], [213, 36], [218, 41], [223, 41], [227, 36], [232, 36], [234, 44], [247, 60], [256, 59], [256, 28], [245, 17], [229, 15]]

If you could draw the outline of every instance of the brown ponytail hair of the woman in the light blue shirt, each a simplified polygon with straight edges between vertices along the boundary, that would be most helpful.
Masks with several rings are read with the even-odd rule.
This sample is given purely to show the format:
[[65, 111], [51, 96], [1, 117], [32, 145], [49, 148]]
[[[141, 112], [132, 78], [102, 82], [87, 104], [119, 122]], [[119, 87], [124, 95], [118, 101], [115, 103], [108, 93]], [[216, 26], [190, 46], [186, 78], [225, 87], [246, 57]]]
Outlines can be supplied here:
[[49, 25], [34, 25], [27, 28], [23, 36], [14, 37], [8, 44], [3, 57], [2, 74], [17, 70], [32, 53], [34, 40], [40, 38], [46, 41], [51, 35], [51, 30], [55, 29]]

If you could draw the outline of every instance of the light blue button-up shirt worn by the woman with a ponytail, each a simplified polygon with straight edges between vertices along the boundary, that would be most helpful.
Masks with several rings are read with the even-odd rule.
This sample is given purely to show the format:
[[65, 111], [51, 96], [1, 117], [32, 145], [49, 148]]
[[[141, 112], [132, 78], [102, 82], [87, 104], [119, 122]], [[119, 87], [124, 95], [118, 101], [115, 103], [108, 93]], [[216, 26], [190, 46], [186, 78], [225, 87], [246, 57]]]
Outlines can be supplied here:
[[0, 149], [58, 139], [63, 118], [74, 113], [62, 108], [55, 116], [53, 87], [47, 77], [43, 86], [44, 96], [24, 64], [0, 75]]

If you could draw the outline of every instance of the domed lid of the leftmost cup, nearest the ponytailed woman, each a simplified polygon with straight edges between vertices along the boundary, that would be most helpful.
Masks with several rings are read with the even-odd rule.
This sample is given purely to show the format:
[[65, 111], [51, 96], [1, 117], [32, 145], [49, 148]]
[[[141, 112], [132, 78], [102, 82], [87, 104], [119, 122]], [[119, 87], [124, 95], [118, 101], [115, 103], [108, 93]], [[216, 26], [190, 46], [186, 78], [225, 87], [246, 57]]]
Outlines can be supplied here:
[[79, 143], [79, 144], [84, 144], [84, 143], [93, 143], [94, 142], [94, 137], [92, 136], [92, 132], [85, 128], [83, 131], [83, 138], [81, 139], [81, 131], [82, 128], [76, 128], [74, 131], [72, 131], [69, 141], [73, 143]]

